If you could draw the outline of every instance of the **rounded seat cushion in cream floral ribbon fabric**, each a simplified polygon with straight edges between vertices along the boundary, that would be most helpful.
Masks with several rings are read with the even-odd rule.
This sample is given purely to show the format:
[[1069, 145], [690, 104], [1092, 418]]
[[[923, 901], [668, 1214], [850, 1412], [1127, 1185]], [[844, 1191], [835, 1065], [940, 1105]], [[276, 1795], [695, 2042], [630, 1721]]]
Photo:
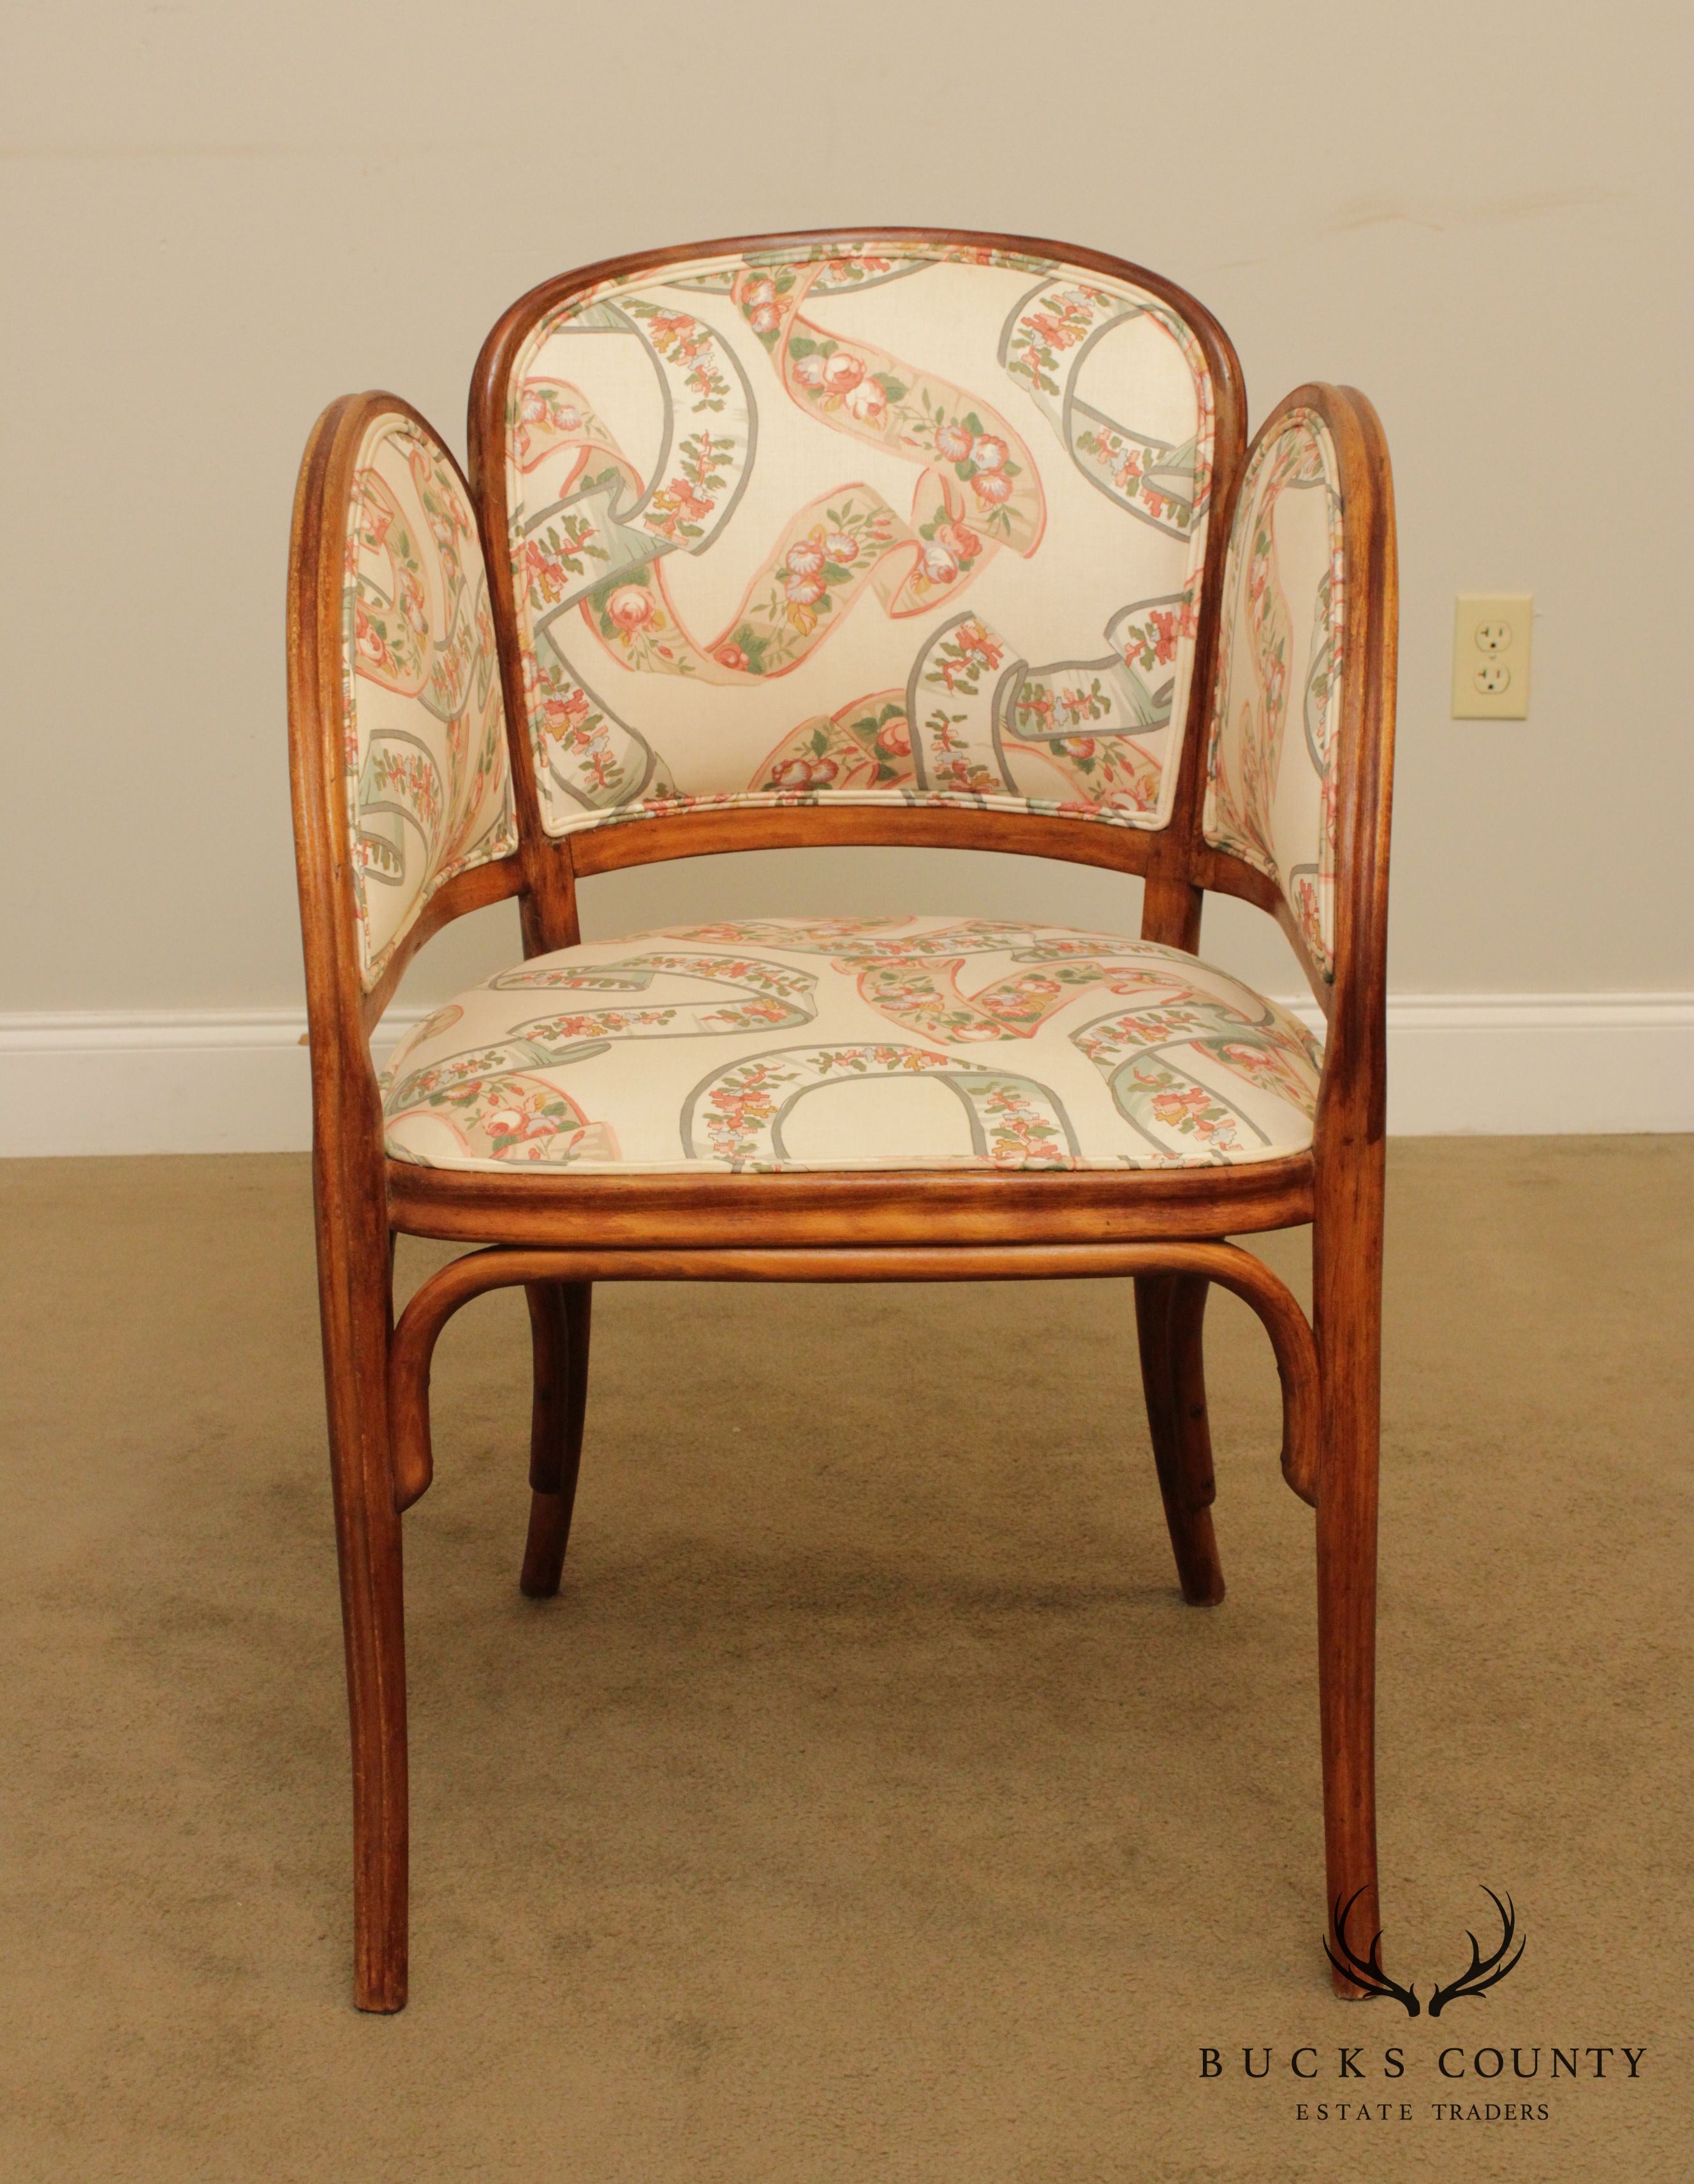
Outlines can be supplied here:
[[1318, 1048], [1174, 948], [957, 917], [763, 917], [533, 957], [396, 1051], [433, 1168], [1174, 1168], [1311, 1142]]

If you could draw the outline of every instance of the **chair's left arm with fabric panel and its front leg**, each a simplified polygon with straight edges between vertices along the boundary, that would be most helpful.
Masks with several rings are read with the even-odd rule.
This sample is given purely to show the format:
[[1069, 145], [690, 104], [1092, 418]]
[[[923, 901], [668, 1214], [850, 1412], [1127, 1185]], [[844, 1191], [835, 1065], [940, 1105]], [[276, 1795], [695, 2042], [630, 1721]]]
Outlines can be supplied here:
[[[367, 1035], [411, 950], [516, 887], [474, 539], [463, 478], [415, 411], [391, 395], [330, 404], [295, 496], [289, 734], [363, 2009], [407, 1998], [407, 1660], [387, 1413], [393, 1230]], [[354, 662], [367, 668], [361, 681]]]

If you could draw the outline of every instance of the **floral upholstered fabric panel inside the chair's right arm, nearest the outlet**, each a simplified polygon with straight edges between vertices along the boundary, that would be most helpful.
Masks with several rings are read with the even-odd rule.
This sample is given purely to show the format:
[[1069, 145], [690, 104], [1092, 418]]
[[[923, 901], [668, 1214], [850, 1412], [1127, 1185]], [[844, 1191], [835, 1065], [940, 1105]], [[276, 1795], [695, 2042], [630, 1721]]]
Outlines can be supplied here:
[[1257, 441], [1231, 526], [1204, 836], [1277, 882], [1327, 978], [1344, 607], [1336, 443], [1292, 408]]

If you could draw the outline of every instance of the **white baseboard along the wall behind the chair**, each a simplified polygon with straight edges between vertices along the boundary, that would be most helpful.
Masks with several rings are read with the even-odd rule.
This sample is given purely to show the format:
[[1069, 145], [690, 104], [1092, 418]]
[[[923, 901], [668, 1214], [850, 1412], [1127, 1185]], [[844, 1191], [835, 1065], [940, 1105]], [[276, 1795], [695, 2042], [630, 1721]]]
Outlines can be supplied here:
[[[389, 1009], [383, 1031], [422, 1013]], [[0, 1158], [304, 1151], [304, 1029], [291, 1009], [0, 1013]], [[1388, 1127], [1694, 1131], [1694, 994], [1390, 998]]]

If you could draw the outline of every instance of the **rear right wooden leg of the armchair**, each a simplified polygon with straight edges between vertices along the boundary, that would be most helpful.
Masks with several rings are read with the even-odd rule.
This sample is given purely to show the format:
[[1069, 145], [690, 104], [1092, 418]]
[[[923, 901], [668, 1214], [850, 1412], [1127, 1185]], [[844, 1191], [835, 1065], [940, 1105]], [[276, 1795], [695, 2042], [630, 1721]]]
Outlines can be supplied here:
[[1211, 1529], [1217, 1492], [1211, 1474], [1202, 1321], [1209, 1282], [1202, 1273], [1139, 1273], [1134, 1328], [1141, 1343], [1141, 1387], [1158, 1468], [1158, 1494], [1176, 1553], [1183, 1599], [1215, 1607], [1224, 1566]]

